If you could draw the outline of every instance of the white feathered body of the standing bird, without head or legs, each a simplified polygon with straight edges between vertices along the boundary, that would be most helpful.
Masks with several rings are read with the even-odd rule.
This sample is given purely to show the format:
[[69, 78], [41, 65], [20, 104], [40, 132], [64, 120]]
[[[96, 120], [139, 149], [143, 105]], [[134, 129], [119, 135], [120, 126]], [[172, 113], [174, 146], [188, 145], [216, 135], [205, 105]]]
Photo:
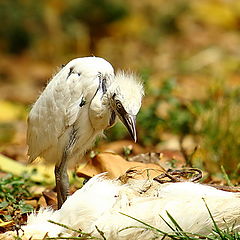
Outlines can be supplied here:
[[[110, 79], [114, 72], [112, 66], [101, 58], [94, 58], [96, 68], [88, 69], [87, 63], [82, 66], [81, 62], [90, 60], [92, 58], [79, 58], [64, 66], [33, 105], [27, 137], [30, 162], [40, 156], [47, 163], [60, 163], [63, 149], [69, 144], [74, 129], [77, 129], [76, 139], [81, 146], [73, 146], [68, 160], [77, 159], [91, 147], [96, 135], [106, 128], [107, 120], [102, 124], [103, 128], [99, 128], [91, 122], [88, 110], [95, 110], [91, 101], [99, 87], [99, 73], [109, 75]], [[75, 68], [76, 72], [69, 75], [75, 65], [82, 69]], [[81, 151], [78, 151], [79, 147]]]

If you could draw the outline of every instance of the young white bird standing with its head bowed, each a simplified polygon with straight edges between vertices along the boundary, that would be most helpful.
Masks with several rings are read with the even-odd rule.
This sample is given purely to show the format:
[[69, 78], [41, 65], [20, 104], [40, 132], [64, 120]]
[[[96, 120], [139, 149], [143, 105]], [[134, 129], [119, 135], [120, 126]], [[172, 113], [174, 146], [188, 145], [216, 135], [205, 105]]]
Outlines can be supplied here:
[[98, 57], [70, 61], [49, 82], [30, 111], [27, 144], [30, 162], [41, 157], [55, 164], [59, 208], [68, 196], [68, 165], [83, 157], [116, 116], [136, 141], [142, 96], [134, 75], [115, 75]]

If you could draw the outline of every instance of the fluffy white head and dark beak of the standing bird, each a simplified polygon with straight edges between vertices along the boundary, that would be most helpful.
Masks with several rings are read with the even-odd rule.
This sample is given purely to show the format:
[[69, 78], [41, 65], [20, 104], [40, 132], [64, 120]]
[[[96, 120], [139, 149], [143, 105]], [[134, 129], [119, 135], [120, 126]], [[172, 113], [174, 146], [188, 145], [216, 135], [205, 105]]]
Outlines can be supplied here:
[[111, 109], [128, 129], [136, 142], [136, 115], [141, 107], [143, 85], [134, 74], [117, 72], [108, 89]]

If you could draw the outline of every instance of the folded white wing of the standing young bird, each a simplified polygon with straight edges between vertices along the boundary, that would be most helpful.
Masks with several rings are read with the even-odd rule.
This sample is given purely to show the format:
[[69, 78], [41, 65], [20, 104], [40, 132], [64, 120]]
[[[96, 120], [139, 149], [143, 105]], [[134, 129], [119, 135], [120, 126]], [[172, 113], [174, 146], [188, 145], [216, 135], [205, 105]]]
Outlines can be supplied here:
[[[30, 162], [38, 156], [48, 158], [44, 154], [46, 151], [54, 149], [59, 153], [63, 151], [58, 149], [59, 138], [74, 124], [85, 101], [90, 102], [98, 85], [97, 76], [89, 79], [81, 76], [77, 81], [73, 77], [67, 79], [58, 77], [48, 84], [28, 118], [27, 144]], [[85, 94], [86, 92], [88, 94]], [[52, 157], [56, 156], [49, 158]]]

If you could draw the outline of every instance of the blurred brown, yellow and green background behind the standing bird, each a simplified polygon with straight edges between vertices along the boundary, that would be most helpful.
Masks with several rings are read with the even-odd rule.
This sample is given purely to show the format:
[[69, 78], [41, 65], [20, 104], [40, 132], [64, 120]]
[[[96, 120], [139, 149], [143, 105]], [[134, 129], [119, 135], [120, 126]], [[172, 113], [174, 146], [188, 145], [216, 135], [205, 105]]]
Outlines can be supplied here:
[[2, 0], [0, 19], [3, 154], [26, 159], [27, 112], [57, 66], [95, 55], [142, 77], [141, 145], [198, 146], [195, 166], [239, 176], [240, 1]]

